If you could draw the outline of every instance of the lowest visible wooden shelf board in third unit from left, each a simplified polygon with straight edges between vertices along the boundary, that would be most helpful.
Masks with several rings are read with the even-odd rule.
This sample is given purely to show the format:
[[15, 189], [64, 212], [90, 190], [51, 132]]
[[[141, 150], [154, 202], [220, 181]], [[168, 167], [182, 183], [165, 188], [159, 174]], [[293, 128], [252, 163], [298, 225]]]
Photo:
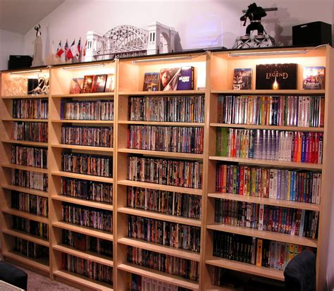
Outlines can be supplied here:
[[126, 271], [128, 273], [135, 273], [137, 275], [142, 275], [147, 278], [159, 280], [161, 282], [177, 285], [180, 287], [185, 287], [190, 290], [199, 290], [199, 284], [192, 280], [183, 279], [176, 275], [170, 275], [168, 273], [163, 273], [161, 271], [156, 271], [151, 268], [145, 268], [135, 264], [124, 263], [117, 266], [118, 269]]

